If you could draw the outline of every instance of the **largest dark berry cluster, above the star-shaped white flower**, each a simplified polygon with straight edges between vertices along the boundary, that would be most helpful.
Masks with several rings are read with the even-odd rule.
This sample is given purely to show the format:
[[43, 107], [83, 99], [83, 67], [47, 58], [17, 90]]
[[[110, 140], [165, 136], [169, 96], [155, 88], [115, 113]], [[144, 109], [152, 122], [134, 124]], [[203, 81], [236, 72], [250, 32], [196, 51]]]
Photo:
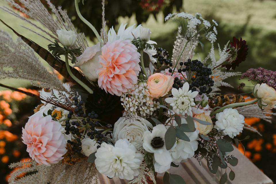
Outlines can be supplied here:
[[191, 78], [190, 90], [196, 91], [196, 88], [198, 88], [200, 95], [203, 93], [209, 94], [212, 91], [211, 87], [214, 86], [214, 81], [210, 77], [212, 74], [211, 68], [204, 67], [200, 61], [191, 61], [191, 59], [188, 59], [183, 65], [186, 66], [186, 71], [195, 72], [195, 77]]

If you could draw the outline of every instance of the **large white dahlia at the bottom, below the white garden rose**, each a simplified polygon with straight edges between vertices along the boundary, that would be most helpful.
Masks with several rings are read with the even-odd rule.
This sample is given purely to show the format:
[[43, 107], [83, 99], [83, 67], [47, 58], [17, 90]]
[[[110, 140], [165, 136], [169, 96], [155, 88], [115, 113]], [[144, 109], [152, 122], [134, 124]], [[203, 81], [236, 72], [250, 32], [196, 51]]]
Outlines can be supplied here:
[[132, 180], [139, 175], [143, 155], [127, 139], [118, 140], [115, 145], [102, 143], [95, 154], [95, 165], [99, 173], [109, 178]]

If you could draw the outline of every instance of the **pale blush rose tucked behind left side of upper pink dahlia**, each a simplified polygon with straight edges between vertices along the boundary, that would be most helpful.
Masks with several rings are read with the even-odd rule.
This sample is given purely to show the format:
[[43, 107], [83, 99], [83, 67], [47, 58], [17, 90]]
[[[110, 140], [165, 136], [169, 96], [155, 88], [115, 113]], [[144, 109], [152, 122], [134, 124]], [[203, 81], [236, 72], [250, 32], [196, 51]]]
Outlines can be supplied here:
[[91, 81], [96, 81], [98, 79], [97, 68], [101, 67], [99, 64], [99, 56], [101, 55], [101, 45], [93, 45], [92, 47], [87, 47], [82, 55], [77, 57], [77, 63], [74, 65], [81, 69], [83, 74], [89, 78]]

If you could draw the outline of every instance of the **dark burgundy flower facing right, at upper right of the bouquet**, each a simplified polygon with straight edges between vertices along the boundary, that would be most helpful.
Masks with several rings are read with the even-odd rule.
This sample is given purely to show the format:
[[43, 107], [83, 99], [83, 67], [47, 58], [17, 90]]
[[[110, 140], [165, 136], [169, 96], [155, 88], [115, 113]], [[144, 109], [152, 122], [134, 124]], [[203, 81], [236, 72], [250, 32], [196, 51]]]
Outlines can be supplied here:
[[248, 46], [246, 45], [246, 41], [238, 40], [236, 37], [233, 37], [233, 42], [230, 43], [230, 48], [228, 49], [230, 53], [230, 58], [227, 60], [229, 64], [225, 64], [222, 67], [227, 68], [227, 70], [235, 70], [236, 66], [243, 61], [245, 61], [246, 56], [248, 54]]

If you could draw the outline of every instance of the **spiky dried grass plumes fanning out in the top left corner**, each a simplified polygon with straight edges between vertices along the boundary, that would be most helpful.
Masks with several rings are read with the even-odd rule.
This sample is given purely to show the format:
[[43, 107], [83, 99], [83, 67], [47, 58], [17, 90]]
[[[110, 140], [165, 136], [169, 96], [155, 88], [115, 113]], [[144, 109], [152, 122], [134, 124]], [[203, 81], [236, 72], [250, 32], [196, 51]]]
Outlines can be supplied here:
[[[6, 11], [9, 14], [12, 14], [25, 22], [31, 24], [35, 28], [41, 30], [45, 34], [47, 34], [51, 39], [58, 40], [58, 36], [56, 31], [60, 29], [66, 29], [66, 30], [73, 30], [75, 33], [77, 33], [74, 25], [72, 24], [70, 18], [67, 15], [67, 12], [65, 10], [62, 10], [61, 7], [58, 7], [58, 9], [55, 8], [55, 6], [50, 2], [50, 0], [46, 0], [47, 4], [49, 5], [51, 11], [53, 14], [55, 14], [55, 18], [48, 12], [47, 8], [41, 3], [40, 0], [19, 0], [22, 5], [20, 6], [17, 4], [14, 0], [6, 0], [8, 3], [28, 15], [30, 18], [33, 18], [34, 20], [37, 20], [40, 22], [45, 28], [47, 28], [49, 31], [44, 30], [43, 28], [35, 25], [34, 23], [30, 22], [28, 19], [18, 15], [10, 8], [7, 8], [5, 6], [0, 7], [4, 11]], [[26, 28], [25, 26], [22, 26]], [[30, 30], [29, 28], [26, 28]], [[32, 32], [35, 32], [31, 30]], [[44, 39], [47, 39], [47, 41], [53, 42], [53, 40], [50, 40], [41, 34], [35, 32], [39, 36], [43, 37]], [[85, 50], [85, 48], [88, 46], [85, 35], [83, 33], [77, 33], [77, 41], [76, 45], [72, 48], [78, 48], [81, 47], [82, 50]]]

